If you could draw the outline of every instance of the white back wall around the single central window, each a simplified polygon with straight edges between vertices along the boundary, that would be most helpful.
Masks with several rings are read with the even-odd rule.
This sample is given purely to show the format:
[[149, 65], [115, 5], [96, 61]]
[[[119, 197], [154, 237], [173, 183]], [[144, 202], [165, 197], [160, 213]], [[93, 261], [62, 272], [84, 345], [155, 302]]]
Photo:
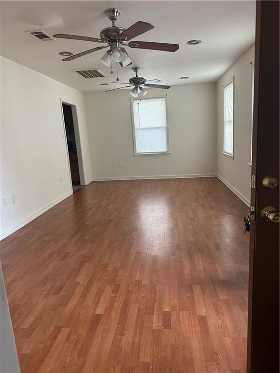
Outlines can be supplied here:
[[84, 94], [93, 179], [216, 173], [215, 84], [152, 89], [147, 95], [166, 93], [171, 154], [148, 157], [133, 156], [129, 90]]

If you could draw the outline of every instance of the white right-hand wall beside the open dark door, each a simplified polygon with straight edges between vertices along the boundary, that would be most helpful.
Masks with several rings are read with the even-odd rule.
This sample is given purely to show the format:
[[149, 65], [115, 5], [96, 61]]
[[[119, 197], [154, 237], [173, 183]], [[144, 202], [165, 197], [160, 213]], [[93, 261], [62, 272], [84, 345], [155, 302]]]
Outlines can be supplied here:
[[[217, 174], [239, 197], [250, 204], [252, 65], [251, 47], [217, 82]], [[223, 152], [223, 85], [234, 75], [234, 158]]]

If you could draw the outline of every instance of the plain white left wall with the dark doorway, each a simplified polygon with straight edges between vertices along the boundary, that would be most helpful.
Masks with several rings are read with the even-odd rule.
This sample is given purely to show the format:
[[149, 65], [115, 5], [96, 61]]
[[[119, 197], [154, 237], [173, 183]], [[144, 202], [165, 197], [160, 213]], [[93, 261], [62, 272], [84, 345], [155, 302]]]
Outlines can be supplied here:
[[72, 192], [60, 98], [77, 105], [85, 182], [91, 168], [83, 94], [6, 58], [0, 64], [3, 238]]

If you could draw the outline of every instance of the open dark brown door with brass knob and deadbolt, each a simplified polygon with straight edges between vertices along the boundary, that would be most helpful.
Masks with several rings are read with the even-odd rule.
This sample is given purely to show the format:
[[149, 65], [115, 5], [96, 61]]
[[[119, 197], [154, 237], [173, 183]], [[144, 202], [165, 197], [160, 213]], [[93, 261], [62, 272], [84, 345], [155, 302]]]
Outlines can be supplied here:
[[[257, 1], [252, 175], [247, 372], [277, 373], [280, 224], [262, 209], [279, 213], [279, 1]], [[266, 176], [278, 186], [263, 186]]]

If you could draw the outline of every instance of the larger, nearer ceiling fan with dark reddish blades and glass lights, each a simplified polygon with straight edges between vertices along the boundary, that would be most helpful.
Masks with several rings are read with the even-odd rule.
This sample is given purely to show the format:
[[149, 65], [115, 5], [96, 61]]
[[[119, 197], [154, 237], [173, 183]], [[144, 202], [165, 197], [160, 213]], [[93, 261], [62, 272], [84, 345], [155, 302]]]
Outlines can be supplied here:
[[[121, 12], [118, 9], [107, 9], [105, 11], [105, 14], [110, 19], [110, 21], [112, 21], [112, 26], [106, 27], [105, 29], [101, 30], [100, 38], [70, 34], [53, 35], [54, 38], [85, 40], [107, 44], [102, 47], [96, 47], [93, 49], [89, 49], [88, 51], [83, 51], [81, 53], [74, 54], [70, 57], [64, 58], [62, 61], [71, 61], [75, 58], [79, 58], [85, 56], [86, 54], [95, 51], [100, 51], [101, 49], [109, 47], [110, 49], [105, 52], [104, 56], [100, 59], [100, 61], [107, 67], [109, 67], [111, 60], [113, 60], [116, 63], [120, 63], [120, 65], [123, 67], [132, 64], [132, 60], [129, 57], [128, 53], [125, 51], [125, 49], [121, 47], [121, 45], [136, 49], [150, 49], [168, 52], [175, 52], [179, 49], [178, 44], [155, 43], [148, 41], [130, 41], [134, 37], [144, 34], [149, 30], [152, 30], [154, 26], [147, 22], [138, 21], [134, 23], [132, 26], [130, 26], [128, 29], [124, 29], [123, 27], [116, 26], [116, 20], [121, 14]], [[124, 44], [124, 42], [128, 42], [128, 44]]]

